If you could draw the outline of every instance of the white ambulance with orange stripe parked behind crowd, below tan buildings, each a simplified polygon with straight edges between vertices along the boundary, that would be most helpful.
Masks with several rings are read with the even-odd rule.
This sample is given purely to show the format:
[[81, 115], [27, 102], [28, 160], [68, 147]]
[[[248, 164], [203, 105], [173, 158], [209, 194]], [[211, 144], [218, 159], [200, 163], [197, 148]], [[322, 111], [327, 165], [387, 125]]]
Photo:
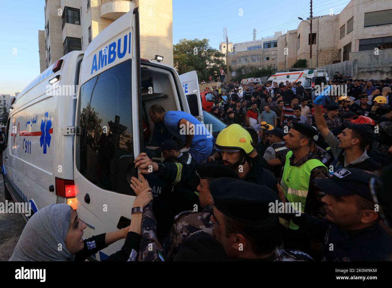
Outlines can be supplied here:
[[327, 70], [303, 70], [303, 71], [293, 71], [293, 72], [278, 72], [270, 76], [265, 84], [270, 83], [271, 86], [273, 82], [286, 83], [289, 82], [301, 82], [301, 85], [309, 92], [315, 85], [321, 85], [324, 83], [328, 84], [328, 73]]

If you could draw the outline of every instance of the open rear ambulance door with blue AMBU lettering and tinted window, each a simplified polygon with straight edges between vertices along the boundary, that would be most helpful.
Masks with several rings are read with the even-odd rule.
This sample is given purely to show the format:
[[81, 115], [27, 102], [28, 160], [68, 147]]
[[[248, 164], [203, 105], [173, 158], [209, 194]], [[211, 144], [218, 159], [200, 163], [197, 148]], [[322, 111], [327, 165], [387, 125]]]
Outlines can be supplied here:
[[[74, 183], [83, 238], [125, 228], [135, 199], [131, 176], [143, 141], [140, 116], [139, 14], [135, 8], [100, 32], [87, 47], [76, 104]], [[119, 251], [116, 241], [94, 255]], [[90, 246], [94, 246], [91, 243]]]

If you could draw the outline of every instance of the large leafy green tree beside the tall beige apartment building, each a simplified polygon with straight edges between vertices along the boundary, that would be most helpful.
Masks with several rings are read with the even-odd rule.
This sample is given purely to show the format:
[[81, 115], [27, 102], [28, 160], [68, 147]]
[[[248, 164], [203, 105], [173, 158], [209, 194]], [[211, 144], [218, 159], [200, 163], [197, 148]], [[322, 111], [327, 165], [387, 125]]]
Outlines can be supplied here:
[[209, 45], [208, 39], [181, 39], [173, 45], [174, 68], [178, 74], [195, 70], [199, 82], [207, 81], [209, 76], [214, 79], [214, 71], [219, 72], [221, 66], [227, 72], [224, 57], [225, 54]]

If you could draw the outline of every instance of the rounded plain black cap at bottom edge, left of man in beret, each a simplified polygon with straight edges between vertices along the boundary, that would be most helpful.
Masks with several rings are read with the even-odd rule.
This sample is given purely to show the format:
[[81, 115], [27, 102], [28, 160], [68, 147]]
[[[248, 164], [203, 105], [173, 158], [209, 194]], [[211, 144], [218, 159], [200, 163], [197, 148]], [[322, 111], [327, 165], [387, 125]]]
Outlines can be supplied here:
[[198, 231], [185, 239], [174, 261], [229, 261], [229, 257], [212, 235]]

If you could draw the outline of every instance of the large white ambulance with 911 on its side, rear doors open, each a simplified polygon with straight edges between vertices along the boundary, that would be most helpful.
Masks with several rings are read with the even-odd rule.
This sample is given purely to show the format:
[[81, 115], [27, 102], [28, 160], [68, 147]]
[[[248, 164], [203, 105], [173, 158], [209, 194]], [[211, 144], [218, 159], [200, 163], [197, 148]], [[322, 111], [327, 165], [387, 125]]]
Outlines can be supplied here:
[[[130, 179], [138, 175], [133, 161], [162, 143], [154, 133], [143, 136], [143, 124], [154, 131], [149, 107], [203, 121], [199, 95], [196, 72], [181, 77], [173, 67], [140, 59], [138, 9], [124, 14], [13, 101], [2, 166], [6, 197], [31, 203], [32, 213], [68, 203], [87, 223], [85, 238], [129, 225]], [[95, 257], [105, 259], [122, 245]]]

